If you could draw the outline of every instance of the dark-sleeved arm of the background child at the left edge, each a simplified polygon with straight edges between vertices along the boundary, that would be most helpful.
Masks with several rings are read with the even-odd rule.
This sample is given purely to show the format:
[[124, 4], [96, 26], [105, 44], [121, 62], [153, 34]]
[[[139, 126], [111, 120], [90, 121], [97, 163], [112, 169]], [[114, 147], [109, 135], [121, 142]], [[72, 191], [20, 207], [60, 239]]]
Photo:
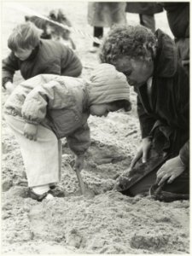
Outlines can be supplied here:
[[[15, 57], [14, 53], [11, 52], [6, 59], [2, 61], [2, 86], [7, 89], [6, 85], [8, 82], [13, 82], [14, 74], [16, 70], [19, 70], [19, 60]], [[9, 84], [8, 84], [9, 85]]]

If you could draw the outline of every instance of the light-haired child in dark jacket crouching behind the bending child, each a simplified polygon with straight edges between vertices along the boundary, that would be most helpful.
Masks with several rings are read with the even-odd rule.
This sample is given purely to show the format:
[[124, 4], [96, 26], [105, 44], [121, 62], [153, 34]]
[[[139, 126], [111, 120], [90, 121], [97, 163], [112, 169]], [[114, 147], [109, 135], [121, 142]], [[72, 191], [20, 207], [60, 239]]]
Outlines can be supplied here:
[[78, 77], [82, 71], [79, 57], [60, 42], [40, 39], [38, 27], [26, 22], [15, 27], [8, 40], [11, 53], [3, 60], [3, 87], [15, 89], [13, 78], [16, 70], [24, 79], [40, 73]]

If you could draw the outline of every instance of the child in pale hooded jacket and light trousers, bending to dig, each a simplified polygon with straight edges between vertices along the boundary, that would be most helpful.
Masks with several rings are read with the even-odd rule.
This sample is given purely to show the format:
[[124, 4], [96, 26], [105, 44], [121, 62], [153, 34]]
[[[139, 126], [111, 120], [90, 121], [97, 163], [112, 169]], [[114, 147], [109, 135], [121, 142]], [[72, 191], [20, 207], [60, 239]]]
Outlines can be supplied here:
[[42, 201], [49, 184], [59, 182], [61, 141], [67, 138], [82, 170], [90, 146], [90, 114], [131, 109], [125, 75], [100, 64], [89, 80], [41, 74], [19, 84], [4, 106], [4, 116], [20, 144], [30, 196]]

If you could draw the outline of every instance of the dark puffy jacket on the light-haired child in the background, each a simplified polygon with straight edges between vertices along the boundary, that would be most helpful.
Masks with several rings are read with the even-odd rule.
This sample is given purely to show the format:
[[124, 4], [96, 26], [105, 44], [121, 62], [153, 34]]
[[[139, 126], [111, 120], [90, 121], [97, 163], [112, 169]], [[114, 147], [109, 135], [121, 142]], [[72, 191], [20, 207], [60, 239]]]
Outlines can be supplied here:
[[40, 73], [78, 77], [82, 64], [72, 49], [59, 42], [42, 39], [26, 61], [20, 61], [14, 52], [3, 60], [3, 85], [13, 82], [16, 70], [20, 70], [24, 79], [31, 79]]

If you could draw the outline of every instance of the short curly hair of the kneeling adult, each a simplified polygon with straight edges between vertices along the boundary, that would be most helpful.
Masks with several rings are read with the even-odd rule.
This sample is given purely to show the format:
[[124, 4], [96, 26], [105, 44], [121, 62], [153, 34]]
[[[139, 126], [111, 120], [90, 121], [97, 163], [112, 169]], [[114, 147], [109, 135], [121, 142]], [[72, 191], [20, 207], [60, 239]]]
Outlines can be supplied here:
[[136, 59], [154, 59], [157, 38], [144, 26], [113, 26], [100, 47], [99, 58], [103, 63], [115, 65], [122, 56]]

